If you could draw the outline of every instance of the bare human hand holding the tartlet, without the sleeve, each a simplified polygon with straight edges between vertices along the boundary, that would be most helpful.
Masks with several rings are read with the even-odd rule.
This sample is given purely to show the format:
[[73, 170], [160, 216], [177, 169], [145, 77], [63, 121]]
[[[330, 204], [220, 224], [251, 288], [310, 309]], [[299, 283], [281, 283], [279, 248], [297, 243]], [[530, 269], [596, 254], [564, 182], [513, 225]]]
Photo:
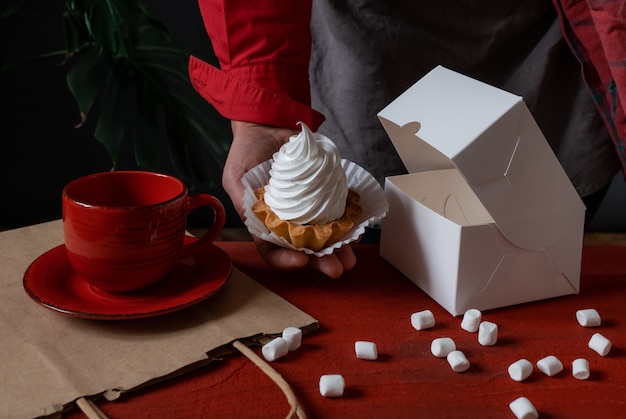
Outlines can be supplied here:
[[[243, 210], [243, 175], [272, 155], [298, 131], [251, 122], [232, 121], [233, 142], [226, 158], [222, 185], [233, 202], [241, 219]], [[279, 269], [296, 269], [311, 265], [331, 278], [341, 276], [344, 270], [354, 267], [356, 257], [350, 246], [342, 246], [330, 255], [309, 256], [304, 252], [286, 249], [273, 243], [254, 238], [259, 254], [265, 262]]]

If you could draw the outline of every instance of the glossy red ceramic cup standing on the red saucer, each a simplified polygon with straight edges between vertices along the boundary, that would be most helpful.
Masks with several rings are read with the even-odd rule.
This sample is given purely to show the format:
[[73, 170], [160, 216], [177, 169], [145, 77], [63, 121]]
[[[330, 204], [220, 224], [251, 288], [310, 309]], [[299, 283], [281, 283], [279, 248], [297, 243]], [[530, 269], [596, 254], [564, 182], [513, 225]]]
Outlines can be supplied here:
[[[211, 207], [214, 220], [198, 240], [183, 244], [187, 216]], [[106, 292], [138, 290], [165, 277], [173, 265], [206, 250], [226, 213], [212, 195], [189, 195], [179, 179], [152, 172], [103, 172], [63, 189], [63, 232], [78, 275]]]

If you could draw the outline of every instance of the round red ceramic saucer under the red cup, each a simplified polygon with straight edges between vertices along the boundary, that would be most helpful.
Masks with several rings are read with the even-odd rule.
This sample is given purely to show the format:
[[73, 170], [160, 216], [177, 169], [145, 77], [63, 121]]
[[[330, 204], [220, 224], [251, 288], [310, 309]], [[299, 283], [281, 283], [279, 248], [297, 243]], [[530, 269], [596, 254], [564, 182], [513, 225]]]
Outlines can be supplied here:
[[113, 294], [88, 284], [72, 269], [65, 245], [39, 256], [24, 274], [24, 289], [38, 304], [75, 317], [99, 320], [136, 319], [171, 313], [199, 303], [228, 281], [232, 261], [219, 247], [188, 257], [156, 284]]

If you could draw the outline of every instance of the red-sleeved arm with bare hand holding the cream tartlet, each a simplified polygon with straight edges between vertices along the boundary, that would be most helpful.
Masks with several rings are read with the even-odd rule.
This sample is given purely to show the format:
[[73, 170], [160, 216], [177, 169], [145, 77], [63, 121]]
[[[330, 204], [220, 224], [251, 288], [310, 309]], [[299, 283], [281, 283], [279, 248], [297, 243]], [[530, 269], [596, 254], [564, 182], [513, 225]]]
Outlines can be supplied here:
[[[303, 121], [317, 129], [310, 107], [310, 1], [199, 0], [221, 69], [192, 57], [195, 89], [232, 120], [233, 143], [222, 184], [243, 218], [241, 177], [272, 157]], [[280, 269], [311, 265], [330, 277], [356, 263], [350, 246], [321, 258], [255, 239], [263, 259]]]

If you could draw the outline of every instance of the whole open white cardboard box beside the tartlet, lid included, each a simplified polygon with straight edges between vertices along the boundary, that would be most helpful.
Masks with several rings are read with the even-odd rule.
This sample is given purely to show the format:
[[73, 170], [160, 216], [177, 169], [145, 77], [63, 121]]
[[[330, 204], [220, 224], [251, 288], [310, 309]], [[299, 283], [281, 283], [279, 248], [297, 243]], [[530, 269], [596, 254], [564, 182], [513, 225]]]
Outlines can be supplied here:
[[578, 292], [585, 208], [521, 97], [440, 66], [378, 117], [385, 259], [453, 315]]

